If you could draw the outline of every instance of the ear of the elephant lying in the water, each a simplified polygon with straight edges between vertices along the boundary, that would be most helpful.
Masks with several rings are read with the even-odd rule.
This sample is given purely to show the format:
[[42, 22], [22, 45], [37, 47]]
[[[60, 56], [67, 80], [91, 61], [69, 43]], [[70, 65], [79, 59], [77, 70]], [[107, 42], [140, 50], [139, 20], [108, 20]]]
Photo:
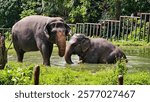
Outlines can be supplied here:
[[89, 38], [83, 39], [81, 42], [82, 52], [86, 52], [90, 48], [90, 45], [91, 43]]

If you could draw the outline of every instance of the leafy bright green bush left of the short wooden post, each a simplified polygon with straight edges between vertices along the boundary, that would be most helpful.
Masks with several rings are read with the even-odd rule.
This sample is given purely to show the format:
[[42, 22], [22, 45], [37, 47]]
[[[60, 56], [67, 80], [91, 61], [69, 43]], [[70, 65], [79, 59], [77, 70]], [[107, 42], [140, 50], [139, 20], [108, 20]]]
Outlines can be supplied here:
[[0, 70], [0, 85], [28, 85], [32, 83], [33, 65], [9, 62]]

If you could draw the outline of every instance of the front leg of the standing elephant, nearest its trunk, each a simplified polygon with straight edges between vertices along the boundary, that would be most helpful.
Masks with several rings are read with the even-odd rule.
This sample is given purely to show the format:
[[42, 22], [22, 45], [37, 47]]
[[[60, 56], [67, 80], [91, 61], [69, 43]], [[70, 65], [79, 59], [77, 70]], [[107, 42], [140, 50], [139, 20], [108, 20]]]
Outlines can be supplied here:
[[53, 50], [53, 44], [50, 44], [49, 46], [48, 45], [43, 44], [40, 49], [40, 52], [43, 57], [43, 65], [46, 65], [46, 66], [50, 66], [50, 57], [51, 57], [52, 50]]

